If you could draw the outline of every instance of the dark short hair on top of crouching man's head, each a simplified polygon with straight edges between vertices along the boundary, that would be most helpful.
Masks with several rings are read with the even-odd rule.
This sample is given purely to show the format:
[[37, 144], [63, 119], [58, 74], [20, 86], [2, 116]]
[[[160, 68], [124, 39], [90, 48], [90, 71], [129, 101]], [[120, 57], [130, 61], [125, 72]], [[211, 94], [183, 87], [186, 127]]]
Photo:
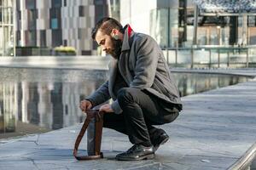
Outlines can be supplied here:
[[123, 32], [123, 26], [119, 23], [119, 21], [114, 20], [110, 17], [104, 17], [96, 23], [96, 26], [91, 31], [91, 37], [95, 40], [96, 33], [97, 31], [99, 31], [99, 29], [102, 30], [104, 33], [110, 35], [111, 31], [114, 28]]

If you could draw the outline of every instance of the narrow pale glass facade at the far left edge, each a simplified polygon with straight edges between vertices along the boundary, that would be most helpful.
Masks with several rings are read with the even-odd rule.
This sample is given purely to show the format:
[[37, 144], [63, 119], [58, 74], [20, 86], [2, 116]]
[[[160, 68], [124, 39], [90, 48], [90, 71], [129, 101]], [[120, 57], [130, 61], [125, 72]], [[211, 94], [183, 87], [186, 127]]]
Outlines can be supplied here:
[[15, 55], [14, 0], [0, 0], [0, 55]]

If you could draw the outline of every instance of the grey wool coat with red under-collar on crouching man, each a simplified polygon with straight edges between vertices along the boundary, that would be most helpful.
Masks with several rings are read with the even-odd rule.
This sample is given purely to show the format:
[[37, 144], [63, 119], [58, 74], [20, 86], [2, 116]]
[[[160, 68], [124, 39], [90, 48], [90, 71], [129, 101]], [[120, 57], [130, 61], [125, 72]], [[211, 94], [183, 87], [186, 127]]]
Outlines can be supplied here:
[[119, 60], [112, 59], [110, 62], [108, 81], [86, 98], [93, 106], [101, 105], [112, 98], [113, 111], [116, 114], [122, 113], [119, 101], [113, 94], [117, 65], [130, 88], [147, 90], [170, 105], [178, 105], [181, 110], [182, 103], [176, 84], [159, 45], [152, 37], [143, 33], [131, 31], [129, 35], [128, 28], [125, 30]]

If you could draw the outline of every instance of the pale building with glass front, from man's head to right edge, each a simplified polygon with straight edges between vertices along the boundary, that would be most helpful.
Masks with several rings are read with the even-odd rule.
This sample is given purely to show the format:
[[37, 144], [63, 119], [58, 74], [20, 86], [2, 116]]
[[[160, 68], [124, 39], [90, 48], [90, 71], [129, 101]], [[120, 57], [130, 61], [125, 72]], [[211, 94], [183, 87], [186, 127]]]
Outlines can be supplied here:
[[120, 11], [123, 24], [148, 33], [163, 48], [256, 44], [255, 1], [124, 0]]

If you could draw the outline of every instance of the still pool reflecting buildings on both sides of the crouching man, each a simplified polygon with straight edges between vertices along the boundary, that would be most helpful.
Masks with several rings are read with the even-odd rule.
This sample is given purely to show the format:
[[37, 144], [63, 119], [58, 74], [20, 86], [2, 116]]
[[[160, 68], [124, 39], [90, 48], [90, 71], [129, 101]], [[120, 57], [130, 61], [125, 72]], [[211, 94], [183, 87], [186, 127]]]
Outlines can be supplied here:
[[[249, 79], [188, 73], [173, 73], [173, 76], [182, 96]], [[107, 71], [0, 68], [0, 139], [83, 122], [79, 101], [107, 77]]]

